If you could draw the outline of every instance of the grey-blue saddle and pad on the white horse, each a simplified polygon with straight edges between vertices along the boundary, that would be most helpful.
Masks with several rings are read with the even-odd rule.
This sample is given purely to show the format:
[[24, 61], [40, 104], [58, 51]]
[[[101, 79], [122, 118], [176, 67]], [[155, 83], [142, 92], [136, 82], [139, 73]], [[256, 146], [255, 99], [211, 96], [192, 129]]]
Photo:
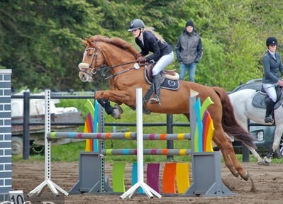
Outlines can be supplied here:
[[[282, 94], [282, 88], [279, 86], [275, 87], [276, 93], [277, 93], [277, 102], [274, 104], [274, 110], [279, 108], [279, 106], [282, 106], [283, 103], [283, 94]], [[270, 100], [267, 94], [265, 93], [264, 89], [257, 90], [255, 92], [255, 96], [253, 96], [252, 104], [256, 108], [265, 108], [266, 109], [266, 103], [265, 101]]]

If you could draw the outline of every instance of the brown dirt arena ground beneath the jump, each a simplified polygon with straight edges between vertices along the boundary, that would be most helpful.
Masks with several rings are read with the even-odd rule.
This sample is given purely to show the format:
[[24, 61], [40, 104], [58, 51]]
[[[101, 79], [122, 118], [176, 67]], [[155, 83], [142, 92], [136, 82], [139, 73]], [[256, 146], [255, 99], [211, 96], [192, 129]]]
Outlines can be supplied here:
[[[106, 163], [106, 175], [111, 175], [112, 165]], [[162, 164], [163, 165], [163, 164]], [[26, 195], [33, 188], [44, 181], [44, 162], [13, 162], [13, 190], [23, 190]], [[222, 166], [222, 181], [233, 192], [235, 196], [226, 197], [162, 197], [148, 198], [136, 195], [133, 198], [121, 199], [118, 195], [94, 195], [83, 193], [79, 195], [60, 196], [59, 201], [55, 201], [50, 195], [50, 190], [45, 188], [43, 194], [35, 198], [26, 198], [30, 203], [42, 203], [49, 199], [53, 203], [282, 203], [283, 201], [283, 164], [271, 164], [270, 166], [258, 166], [255, 163], [244, 163], [243, 166], [250, 172], [255, 183], [255, 191], [251, 191], [251, 181], [232, 176], [226, 166]], [[51, 180], [58, 186], [70, 191], [78, 179], [78, 162], [52, 162]], [[162, 171], [162, 166], [160, 166]], [[190, 171], [191, 172], [191, 171]], [[162, 172], [161, 172], [162, 173]], [[111, 176], [110, 176], [111, 177]], [[190, 179], [192, 175], [190, 173]], [[131, 187], [131, 164], [126, 164], [126, 190]], [[161, 178], [161, 177], [160, 177]], [[110, 178], [111, 181], [111, 178]], [[145, 180], [146, 181], [146, 180]], [[192, 183], [192, 181], [191, 181]], [[162, 185], [160, 183], [160, 185]], [[162, 188], [161, 188], [162, 189]], [[48, 198], [45, 198], [48, 196]], [[50, 197], [51, 196], [51, 197]], [[34, 200], [33, 200], [34, 199]], [[41, 200], [40, 200], [41, 199]], [[61, 199], [61, 200], [60, 200]], [[48, 201], [49, 201], [48, 200]]]

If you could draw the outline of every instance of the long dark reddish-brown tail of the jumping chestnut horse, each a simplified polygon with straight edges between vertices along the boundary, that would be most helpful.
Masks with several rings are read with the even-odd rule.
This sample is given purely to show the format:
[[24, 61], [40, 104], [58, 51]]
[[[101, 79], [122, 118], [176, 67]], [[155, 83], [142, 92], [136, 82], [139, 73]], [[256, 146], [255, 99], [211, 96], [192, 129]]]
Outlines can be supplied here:
[[254, 149], [256, 149], [256, 146], [253, 143], [253, 141], [255, 141], [255, 138], [250, 135], [249, 132], [240, 127], [237, 120], [235, 120], [233, 106], [226, 91], [217, 86], [213, 86], [212, 88], [214, 91], [216, 91], [216, 94], [218, 94], [221, 100], [222, 126], [224, 132], [226, 132], [229, 136], [235, 138], [235, 140], [242, 142], [247, 147], [253, 147]]

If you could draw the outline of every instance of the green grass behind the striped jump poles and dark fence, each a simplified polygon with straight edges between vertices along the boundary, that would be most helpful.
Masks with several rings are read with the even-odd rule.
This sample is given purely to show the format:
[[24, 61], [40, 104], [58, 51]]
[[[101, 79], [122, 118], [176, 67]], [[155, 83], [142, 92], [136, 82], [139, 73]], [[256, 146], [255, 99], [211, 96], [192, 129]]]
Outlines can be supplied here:
[[[73, 102], [72, 102], [73, 101]], [[84, 107], [84, 103], [87, 100], [79, 99], [79, 100], [61, 100], [59, 106], [61, 107], [69, 107], [73, 106], [78, 108], [82, 111], [83, 118], [87, 116], [87, 108]], [[113, 104], [112, 104], [113, 105]], [[111, 116], [105, 114], [105, 121], [107, 123], [135, 123], [136, 114], [135, 111], [131, 110], [128, 106], [122, 105], [124, 113], [121, 115], [121, 120], [115, 120]], [[173, 116], [174, 123], [187, 123], [187, 118], [184, 115], [174, 115]], [[166, 123], [166, 115], [165, 114], [157, 114], [151, 113], [150, 115], [143, 115], [144, 123]], [[125, 129], [128, 128], [127, 131], [135, 132], [135, 127], [116, 127], [116, 129]], [[80, 126], [77, 132], [82, 132], [83, 126]], [[106, 126], [104, 128], [104, 132], [112, 132], [113, 127]], [[189, 132], [188, 127], [174, 127], [174, 133], [183, 133]], [[166, 127], [159, 126], [159, 127], [144, 127], [144, 133], [165, 133]], [[79, 140], [80, 141], [80, 140]], [[144, 148], [145, 149], [165, 149], [166, 148], [166, 141], [144, 141]], [[70, 144], [65, 145], [57, 145], [51, 147], [51, 160], [52, 162], [74, 162], [79, 160], [79, 152], [84, 151], [85, 142], [73, 142]], [[104, 142], [105, 149], [135, 149], [136, 142], [135, 141], [125, 141], [125, 140], [106, 140]], [[175, 149], [191, 149], [190, 141], [174, 141], [174, 148]], [[237, 158], [239, 161], [242, 161], [242, 155], [237, 154]], [[12, 157], [13, 161], [22, 160], [22, 157]], [[34, 154], [30, 155], [30, 160], [44, 160], [44, 154]], [[107, 156], [106, 162], [135, 162], [136, 156]], [[152, 156], [152, 155], [145, 155], [144, 157], [145, 162], [167, 162], [167, 157], [165, 156]], [[186, 156], [174, 156], [174, 161], [180, 162], [190, 162], [191, 157]], [[222, 161], [223, 162], [223, 161]], [[252, 155], [250, 155], [250, 162], [257, 162]], [[283, 163], [283, 159], [272, 159], [272, 163]]]

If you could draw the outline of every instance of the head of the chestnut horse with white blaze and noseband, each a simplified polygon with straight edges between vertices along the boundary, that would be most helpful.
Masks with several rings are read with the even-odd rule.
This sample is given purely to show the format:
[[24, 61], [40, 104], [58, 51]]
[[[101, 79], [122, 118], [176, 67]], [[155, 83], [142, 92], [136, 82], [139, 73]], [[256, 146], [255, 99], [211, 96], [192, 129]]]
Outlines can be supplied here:
[[92, 75], [97, 72], [101, 65], [106, 63], [106, 57], [96, 42], [91, 40], [82, 40], [86, 49], [82, 63], [79, 63], [79, 78], [86, 82], [92, 80]]

